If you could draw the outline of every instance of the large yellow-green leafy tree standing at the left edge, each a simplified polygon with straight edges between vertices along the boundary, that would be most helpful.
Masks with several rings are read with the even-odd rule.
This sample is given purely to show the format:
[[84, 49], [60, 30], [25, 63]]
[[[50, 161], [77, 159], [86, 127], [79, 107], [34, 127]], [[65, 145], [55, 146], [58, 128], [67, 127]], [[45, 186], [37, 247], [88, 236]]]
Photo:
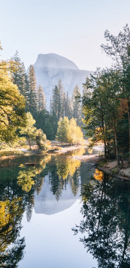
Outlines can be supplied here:
[[8, 64], [0, 62], [0, 141], [13, 142], [24, 125], [25, 101], [9, 76]]

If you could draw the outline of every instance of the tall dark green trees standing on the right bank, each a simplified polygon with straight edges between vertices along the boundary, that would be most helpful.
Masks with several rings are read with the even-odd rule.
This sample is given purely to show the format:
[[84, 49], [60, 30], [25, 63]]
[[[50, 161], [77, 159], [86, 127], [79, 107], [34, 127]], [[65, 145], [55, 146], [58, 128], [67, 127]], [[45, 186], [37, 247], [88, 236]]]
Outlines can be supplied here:
[[113, 36], [104, 33], [102, 51], [111, 57], [111, 68], [97, 68], [83, 84], [83, 122], [89, 146], [101, 141], [104, 158], [123, 166], [130, 159], [130, 31], [128, 25]]

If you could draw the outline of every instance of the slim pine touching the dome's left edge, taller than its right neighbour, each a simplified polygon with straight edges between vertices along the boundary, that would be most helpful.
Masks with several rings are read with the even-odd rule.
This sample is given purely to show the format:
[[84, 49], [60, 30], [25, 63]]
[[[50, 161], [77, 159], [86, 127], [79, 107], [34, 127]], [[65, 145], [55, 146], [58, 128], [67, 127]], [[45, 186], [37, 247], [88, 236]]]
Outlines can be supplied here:
[[37, 109], [37, 92], [36, 92], [36, 79], [34, 73], [34, 67], [31, 64], [28, 70], [28, 79], [29, 79], [29, 111], [34, 114]]

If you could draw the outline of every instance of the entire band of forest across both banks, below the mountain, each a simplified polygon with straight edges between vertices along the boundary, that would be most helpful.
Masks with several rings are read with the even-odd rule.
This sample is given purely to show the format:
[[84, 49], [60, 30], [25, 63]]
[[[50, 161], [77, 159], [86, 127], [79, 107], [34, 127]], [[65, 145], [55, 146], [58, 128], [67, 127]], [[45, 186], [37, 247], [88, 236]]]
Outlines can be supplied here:
[[18, 52], [0, 61], [0, 149], [26, 140], [29, 149], [35, 141], [42, 150], [50, 148], [48, 140], [82, 144], [85, 133], [89, 148], [101, 142], [104, 159], [116, 158], [123, 167], [130, 159], [130, 30], [125, 25], [117, 36], [106, 30], [104, 37], [101, 48], [112, 59], [111, 67], [97, 68], [86, 77], [82, 94], [75, 85], [71, 98], [59, 79], [49, 111], [33, 65], [26, 72]]

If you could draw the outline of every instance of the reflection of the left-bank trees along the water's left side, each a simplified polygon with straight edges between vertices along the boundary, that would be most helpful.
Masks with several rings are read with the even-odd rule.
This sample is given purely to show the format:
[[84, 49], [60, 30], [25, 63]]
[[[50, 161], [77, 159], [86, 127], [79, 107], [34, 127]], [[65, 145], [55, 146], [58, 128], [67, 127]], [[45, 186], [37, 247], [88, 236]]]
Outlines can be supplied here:
[[[40, 191], [47, 159], [37, 167], [20, 165], [0, 172], [0, 267], [17, 267], [24, 253], [24, 237], [19, 238], [21, 219], [30, 221], [34, 192]], [[49, 161], [49, 160], [48, 160]], [[42, 168], [43, 167], [43, 168]]]

